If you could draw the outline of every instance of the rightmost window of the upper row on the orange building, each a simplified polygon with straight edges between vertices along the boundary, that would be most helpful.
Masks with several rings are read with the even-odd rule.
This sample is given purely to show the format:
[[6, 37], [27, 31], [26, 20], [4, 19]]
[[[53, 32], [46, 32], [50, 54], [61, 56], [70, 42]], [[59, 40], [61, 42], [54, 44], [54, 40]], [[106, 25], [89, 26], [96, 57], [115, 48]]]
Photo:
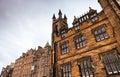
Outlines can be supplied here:
[[102, 40], [109, 38], [109, 35], [106, 30], [106, 24], [102, 24], [102, 25], [92, 29], [92, 33], [95, 37], [96, 42], [100, 42]]

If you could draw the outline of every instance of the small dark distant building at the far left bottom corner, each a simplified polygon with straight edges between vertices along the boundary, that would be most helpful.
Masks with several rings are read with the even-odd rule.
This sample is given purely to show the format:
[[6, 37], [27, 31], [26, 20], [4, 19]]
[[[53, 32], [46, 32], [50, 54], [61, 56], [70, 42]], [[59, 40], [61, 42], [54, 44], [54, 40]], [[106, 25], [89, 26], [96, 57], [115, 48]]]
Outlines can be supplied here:
[[3, 67], [0, 77], [12, 77], [13, 69], [14, 63], [7, 65], [6, 68]]

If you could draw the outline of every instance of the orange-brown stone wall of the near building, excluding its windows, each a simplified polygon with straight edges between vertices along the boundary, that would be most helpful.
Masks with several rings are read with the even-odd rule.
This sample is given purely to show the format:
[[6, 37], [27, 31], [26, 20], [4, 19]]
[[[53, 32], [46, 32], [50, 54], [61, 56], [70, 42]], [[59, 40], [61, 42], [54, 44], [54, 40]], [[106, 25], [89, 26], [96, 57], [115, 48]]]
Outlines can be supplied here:
[[[99, 0], [99, 2], [103, 7], [103, 11], [101, 11], [98, 14], [98, 21], [96, 23], [92, 23], [91, 20], [89, 19], [86, 22], [82, 23], [82, 25], [80, 25], [80, 31], [78, 32], [75, 31], [74, 27], [72, 27], [67, 31], [64, 38], [54, 35], [53, 43], [54, 42], [57, 43], [56, 46], [57, 48], [56, 76], [57, 77], [62, 76], [61, 65], [67, 62], [71, 63], [72, 77], [80, 77], [81, 74], [78, 68], [78, 59], [81, 59], [82, 57], [85, 56], [90, 56], [92, 59], [92, 67], [95, 77], [107, 77], [107, 73], [104, 64], [101, 60], [100, 54], [104, 52], [109, 52], [114, 48], [116, 48], [118, 50], [118, 53], [120, 53], [120, 43], [119, 43], [120, 23], [116, 15], [116, 13], [118, 13], [119, 11], [117, 10], [117, 12], [113, 12], [114, 9], [112, 9], [111, 7], [108, 7], [107, 9], [107, 4], [108, 5], [110, 4], [104, 0]], [[61, 24], [59, 23], [61, 22], [57, 22], [56, 24], [60, 28]], [[103, 24], [106, 24], [105, 28], [106, 28], [106, 32], [109, 35], [109, 38], [97, 42], [92, 33], [92, 30]], [[86, 46], [78, 50], [75, 48], [74, 37], [79, 34], [82, 34], [85, 37]], [[62, 55], [60, 50], [60, 44], [63, 43], [64, 41], [68, 41], [69, 43], [69, 52]], [[54, 47], [52, 48], [54, 50]], [[115, 76], [115, 77], [119, 77], [119, 76]]]

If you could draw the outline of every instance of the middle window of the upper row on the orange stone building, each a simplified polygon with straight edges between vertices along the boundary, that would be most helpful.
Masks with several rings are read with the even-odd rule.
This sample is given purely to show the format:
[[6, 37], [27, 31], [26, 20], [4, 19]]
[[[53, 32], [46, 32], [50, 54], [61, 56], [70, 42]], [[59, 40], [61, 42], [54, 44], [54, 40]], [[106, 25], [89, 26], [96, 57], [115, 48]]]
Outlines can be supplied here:
[[74, 43], [75, 43], [75, 48], [76, 49], [81, 49], [86, 47], [86, 39], [83, 34], [76, 35], [74, 37]]

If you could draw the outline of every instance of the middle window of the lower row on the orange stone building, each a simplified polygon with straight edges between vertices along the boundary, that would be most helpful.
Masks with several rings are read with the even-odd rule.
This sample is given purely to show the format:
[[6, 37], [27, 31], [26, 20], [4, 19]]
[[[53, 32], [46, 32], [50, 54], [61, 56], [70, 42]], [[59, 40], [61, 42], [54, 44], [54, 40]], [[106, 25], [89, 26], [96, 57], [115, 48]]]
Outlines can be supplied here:
[[81, 77], [94, 77], [94, 69], [92, 67], [92, 60], [90, 56], [78, 59], [78, 67]]

